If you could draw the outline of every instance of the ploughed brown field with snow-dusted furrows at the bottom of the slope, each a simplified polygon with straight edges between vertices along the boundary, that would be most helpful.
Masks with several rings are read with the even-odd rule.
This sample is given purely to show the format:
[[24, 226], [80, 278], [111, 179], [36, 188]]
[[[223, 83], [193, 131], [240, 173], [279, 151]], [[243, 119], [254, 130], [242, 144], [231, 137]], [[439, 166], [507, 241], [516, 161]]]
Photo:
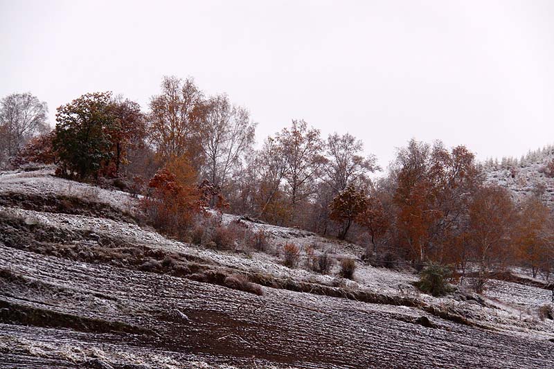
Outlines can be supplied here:
[[[269, 288], [264, 288], [264, 296], [254, 296], [170, 276], [73, 264], [5, 247], [0, 247], [0, 255], [1, 269], [67, 291], [64, 306], [51, 305], [46, 295], [44, 300], [30, 303], [25, 296], [17, 299], [1, 294], [3, 301], [18, 300], [21, 305], [123, 321], [151, 330], [154, 333], [111, 336], [68, 331], [63, 336], [68, 347], [87, 348], [88, 352], [91, 348], [127, 352], [129, 358], [154, 367], [190, 368], [179, 360], [191, 361], [192, 355], [198, 355], [201, 361], [240, 367], [256, 357], [260, 366], [271, 363], [298, 368], [548, 368], [554, 359], [552, 344], [547, 341], [515, 338], [432, 316], [429, 318], [436, 324], [434, 328], [399, 319], [425, 315], [416, 309], [383, 309]], [[71, 291], [76, 292], [74, 298]], [[83, 296], [95, 295], [115, 301], [117, 309], [95, 309], [91, 305], [85, 311]], [[6, 343], [8, 328], [10, 337], [51, 343], [53, 336], [64, 331], [44, 327], [30, 331], [16, 325], [3, 330], [0, 352], [10, 354], [12, 362], [21, 359], [22, 368], [26, 367], [24, 357], [14, 354]], [[157, 362], [145, 354], [147, 348], [158, 356]], [[121, 354], [105, 355], [113, 363], [130, 361]], [[171, 364], [156, 366], [160, 360]], [[73, 361], [78, 363], [80, 359]]]

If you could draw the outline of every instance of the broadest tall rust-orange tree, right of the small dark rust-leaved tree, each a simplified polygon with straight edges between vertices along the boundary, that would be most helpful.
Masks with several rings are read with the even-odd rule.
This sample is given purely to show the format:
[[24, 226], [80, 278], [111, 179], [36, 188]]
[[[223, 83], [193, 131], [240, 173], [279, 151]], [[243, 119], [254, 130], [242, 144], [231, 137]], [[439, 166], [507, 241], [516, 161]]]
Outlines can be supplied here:
[[480, 183], [474, 155], [463, 146], [448, 151], [440, 141], [431, 147], [411, 140], [398, 153], [393, 176], [400, 246], [419, 262], [443, 261]]

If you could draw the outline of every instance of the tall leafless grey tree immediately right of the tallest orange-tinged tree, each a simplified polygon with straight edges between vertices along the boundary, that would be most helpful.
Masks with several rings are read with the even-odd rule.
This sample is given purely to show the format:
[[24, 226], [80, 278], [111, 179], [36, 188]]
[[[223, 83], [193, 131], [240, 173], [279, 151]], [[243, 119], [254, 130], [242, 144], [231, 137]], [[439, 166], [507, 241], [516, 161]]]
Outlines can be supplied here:
[[256, 123], [251, 122], [247, 109], [233, 106], [225, 95], [210, 98], [203, 116], [204, 174], [213, 185], [224, 188], [243, 154], [251, 150]]

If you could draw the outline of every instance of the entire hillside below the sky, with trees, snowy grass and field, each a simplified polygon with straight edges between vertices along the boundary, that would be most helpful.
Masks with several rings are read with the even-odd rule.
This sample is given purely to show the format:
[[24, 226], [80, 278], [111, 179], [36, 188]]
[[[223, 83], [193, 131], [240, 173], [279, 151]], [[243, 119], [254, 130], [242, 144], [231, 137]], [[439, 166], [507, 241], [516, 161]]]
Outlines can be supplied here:
[[374, 177], [301, 119], [255, 150], [192, 78], [51, 131], [30, 94], [0, 109], [2, 367], [552, 366], [551, 148], [413, 139]]

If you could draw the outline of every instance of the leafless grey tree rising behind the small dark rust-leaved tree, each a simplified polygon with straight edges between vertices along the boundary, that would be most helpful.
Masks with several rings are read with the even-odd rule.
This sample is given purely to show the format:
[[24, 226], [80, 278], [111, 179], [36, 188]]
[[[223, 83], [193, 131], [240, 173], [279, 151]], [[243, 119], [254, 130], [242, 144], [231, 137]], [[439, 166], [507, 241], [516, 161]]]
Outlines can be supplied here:
[[330, 134], [325, 149], [325, 181], [336, 193], [343, 191], [348, 184], [365, 180], [369, 173], [379, 170], [375, 156], [362, 156], [364, 143], [351, 134]]

